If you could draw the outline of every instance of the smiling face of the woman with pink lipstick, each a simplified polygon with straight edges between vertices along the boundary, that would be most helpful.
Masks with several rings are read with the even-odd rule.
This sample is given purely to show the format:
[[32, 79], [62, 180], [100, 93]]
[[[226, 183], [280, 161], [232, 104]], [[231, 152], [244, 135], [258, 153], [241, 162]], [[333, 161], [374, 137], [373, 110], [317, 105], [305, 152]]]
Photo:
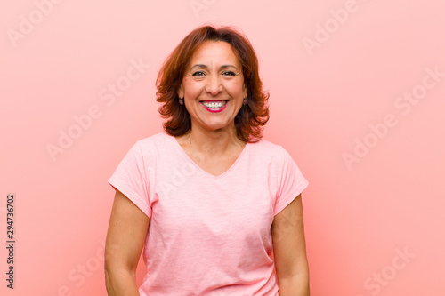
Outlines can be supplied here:
[[185, 68], [178, 96], [184, 99], [191, 128], [223, 131], [234, 120], [247, 97], [242, 66], [231, 44], [206, 41]]

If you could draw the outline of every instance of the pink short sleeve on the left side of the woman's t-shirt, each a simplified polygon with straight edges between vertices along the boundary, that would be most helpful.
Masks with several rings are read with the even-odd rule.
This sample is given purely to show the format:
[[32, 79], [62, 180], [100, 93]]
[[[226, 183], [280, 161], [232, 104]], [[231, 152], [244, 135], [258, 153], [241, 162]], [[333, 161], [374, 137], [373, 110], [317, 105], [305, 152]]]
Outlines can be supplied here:
[[149, 184], [147, 182], [149, 176], [147, 172], [150, 172], [150, 170], [145, 166], [142, 149], [138, 141], [117, 165], [116, 171], [113, 172], [108, 182], [109, 185], [128, 197], [151, 219]]

